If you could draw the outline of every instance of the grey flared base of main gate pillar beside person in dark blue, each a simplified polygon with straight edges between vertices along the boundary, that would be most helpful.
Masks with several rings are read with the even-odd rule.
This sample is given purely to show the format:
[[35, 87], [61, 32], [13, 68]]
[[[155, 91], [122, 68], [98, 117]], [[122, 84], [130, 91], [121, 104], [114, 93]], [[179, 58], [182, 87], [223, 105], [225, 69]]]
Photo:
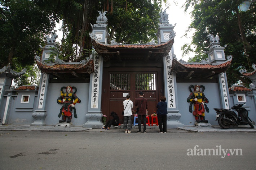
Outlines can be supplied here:
[[180, 123], [181, 114], [178, 112], [167, 111], [167, 129], [176, 129], [184, 127], [184, 124]]

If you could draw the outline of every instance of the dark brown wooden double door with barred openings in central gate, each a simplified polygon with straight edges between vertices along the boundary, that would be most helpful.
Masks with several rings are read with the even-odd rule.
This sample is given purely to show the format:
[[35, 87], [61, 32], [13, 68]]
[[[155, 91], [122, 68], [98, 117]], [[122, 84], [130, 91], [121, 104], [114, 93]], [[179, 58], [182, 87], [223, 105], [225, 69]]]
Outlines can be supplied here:
[[[112, 118], [110, 112], [115, 111], [120, 118], [120, 124], [123, 124], [123, 101], [126, 100], [126, 95], [131, 95], [130, 100], [134, 104], [140, 91], [147, 98], [149, 115], [153, 114], [160, 97], [164, 95], [162, 69], [143, 68], [133, 72], [116, 68], [103, 69], [101, 110], [107, 116], [107, 120]], [[132, 110], [135, 112], [136, 106]]]

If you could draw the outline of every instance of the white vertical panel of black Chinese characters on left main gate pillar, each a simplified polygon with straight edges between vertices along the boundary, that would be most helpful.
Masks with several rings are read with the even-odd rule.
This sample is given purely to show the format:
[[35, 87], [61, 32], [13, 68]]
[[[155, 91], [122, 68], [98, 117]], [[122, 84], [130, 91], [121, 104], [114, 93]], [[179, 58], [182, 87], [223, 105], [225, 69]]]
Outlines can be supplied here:
[[99, 99], [99, 84], [100, 84], [100, 63], [101, 59], [98, 55], [94, 57], [94, 73], [92, 75], [92, 94], [91, 94], [91, 108], [98, 109]]

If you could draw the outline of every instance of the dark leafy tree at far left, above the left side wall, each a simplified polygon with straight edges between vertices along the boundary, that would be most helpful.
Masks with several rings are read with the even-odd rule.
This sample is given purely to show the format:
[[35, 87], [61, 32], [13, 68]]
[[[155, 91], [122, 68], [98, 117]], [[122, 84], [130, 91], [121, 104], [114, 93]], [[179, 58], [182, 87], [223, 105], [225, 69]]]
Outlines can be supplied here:
[[31, 0], [0, 0], [0, 7], [1, 66], [34, 65], [44, 35], [53, 32], [54, 17]]

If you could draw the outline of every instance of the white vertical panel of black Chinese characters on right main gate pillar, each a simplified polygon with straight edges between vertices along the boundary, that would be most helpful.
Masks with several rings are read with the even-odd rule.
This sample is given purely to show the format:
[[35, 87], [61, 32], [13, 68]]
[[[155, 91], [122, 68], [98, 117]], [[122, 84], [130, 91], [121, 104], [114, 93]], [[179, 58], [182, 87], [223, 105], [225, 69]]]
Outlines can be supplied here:
[[167, 93], [168, 93], [168, 108], [176, 108], [175, 89], [172, 68], [172, 58], [170, 55], [166, 57], [166, 75], [167, 75]]

